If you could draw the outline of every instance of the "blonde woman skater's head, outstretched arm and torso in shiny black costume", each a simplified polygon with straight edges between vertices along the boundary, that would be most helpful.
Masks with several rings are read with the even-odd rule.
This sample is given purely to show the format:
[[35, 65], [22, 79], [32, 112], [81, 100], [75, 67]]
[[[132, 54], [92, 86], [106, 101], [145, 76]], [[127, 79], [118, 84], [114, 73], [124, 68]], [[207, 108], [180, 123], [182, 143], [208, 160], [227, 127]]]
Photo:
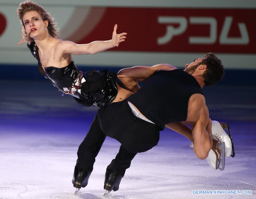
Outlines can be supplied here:
[[[119, 43], [125, 41], [125, 35], [127, 35], [127, 33], [116, 33], [117, 24], [114, 26], [111, 40], [76, 44], [59, 39], [58, 30], [51, 15], [33, 1], [20, 3], [17, 15], [22, 24], [22, 39], [17, 45], [28, 43], [32, 55], [38, 60], [40, 73], [63, 94], [71, 94], [79, 103], [87, 106], [96, 102], [97, 106], [102, 107], [114, 100], [118, 89], [113, 81], [116, 75], [95, 70], [83, 75], [82, 71], [75, 66], [71, 55], [96, 54], [117, 47]], [[98, 79], [100, 83], [95, 84], [94, 81]], [[80, 89], [85, 81], [88, 84], [83, 89], [87, 93]], [[92, 90], [97, 92], [94, 92], [94, 96], [88, 96]]]

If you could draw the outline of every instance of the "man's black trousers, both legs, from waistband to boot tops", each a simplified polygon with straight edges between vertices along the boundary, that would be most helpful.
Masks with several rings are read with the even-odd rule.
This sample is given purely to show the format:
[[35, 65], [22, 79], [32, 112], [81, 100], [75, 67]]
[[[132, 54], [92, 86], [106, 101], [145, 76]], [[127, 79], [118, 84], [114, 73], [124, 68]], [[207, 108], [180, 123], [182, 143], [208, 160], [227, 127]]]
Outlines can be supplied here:
[[121, 143], [119, 152], [108, 169], [122, 176], [138, 152], [151, 149], [159, 141], [157, 125], [134, 116], [127, 101], [114, 102], [98, 110], [84, 141], [78, 148], [77, 167], [92, 171], [95, 157], [106, 135]]

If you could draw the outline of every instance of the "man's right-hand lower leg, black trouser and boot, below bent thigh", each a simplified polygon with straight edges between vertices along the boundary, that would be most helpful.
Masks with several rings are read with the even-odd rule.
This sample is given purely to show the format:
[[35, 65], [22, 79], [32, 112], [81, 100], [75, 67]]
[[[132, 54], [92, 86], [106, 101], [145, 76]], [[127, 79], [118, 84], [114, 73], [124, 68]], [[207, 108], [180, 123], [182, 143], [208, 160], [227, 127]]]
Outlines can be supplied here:
[[127, 151], [123, 145], [120, 146], [118, 154], [106, 169], [104, 189], [117, 191], [125, 170], [131, 165], [131, 161], [137, 153]]

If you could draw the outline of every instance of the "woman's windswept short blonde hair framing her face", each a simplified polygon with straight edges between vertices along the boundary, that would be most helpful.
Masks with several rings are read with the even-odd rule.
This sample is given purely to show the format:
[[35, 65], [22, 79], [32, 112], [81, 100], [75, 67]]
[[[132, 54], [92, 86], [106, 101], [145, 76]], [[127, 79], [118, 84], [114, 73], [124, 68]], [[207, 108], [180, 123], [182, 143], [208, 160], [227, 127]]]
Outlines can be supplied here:
[[43, 21], [48, 20], [47, 29], [48, 29], [49, 35], [51, 35], [54, 38], [59, 38], [59, 28], [57, 28], [54, 18], [48, 12], [46, 12], [46, 10], [42, 6], [36, 4], [33, 1], [27, 0], [20, 3], [20, 6], [17, 9], [17, 16], [20, 18], [20, 23], [22, 25], [22, 32], [24, 33], [24, 39], [29, 44], [33, 42], [34, 39], [30, 37], [28, 34], [26, 34], [25, 25], [22, 20], [24, 14], [28, 11], [36, 11], [38, 12], [38, 14], [41, 15]]

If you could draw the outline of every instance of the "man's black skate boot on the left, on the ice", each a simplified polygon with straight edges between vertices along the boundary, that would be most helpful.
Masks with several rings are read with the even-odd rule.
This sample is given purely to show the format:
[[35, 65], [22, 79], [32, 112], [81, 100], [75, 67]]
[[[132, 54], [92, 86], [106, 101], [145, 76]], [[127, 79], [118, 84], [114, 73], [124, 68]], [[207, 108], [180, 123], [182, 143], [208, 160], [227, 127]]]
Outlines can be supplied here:
[[80, 189], [81, 187], [86, 187], [88, 184], [89, 177], [92, 171], [85, 171], [75, 167], [72, 183], [75, 188]]

